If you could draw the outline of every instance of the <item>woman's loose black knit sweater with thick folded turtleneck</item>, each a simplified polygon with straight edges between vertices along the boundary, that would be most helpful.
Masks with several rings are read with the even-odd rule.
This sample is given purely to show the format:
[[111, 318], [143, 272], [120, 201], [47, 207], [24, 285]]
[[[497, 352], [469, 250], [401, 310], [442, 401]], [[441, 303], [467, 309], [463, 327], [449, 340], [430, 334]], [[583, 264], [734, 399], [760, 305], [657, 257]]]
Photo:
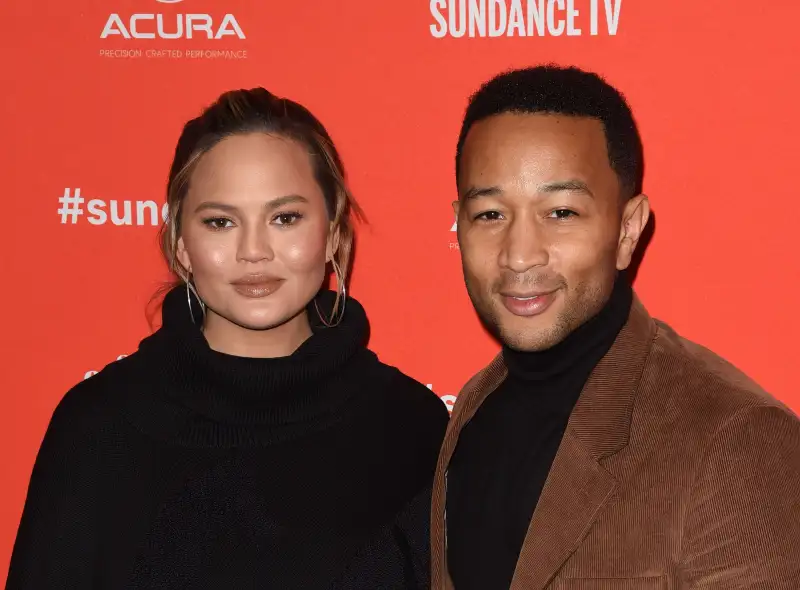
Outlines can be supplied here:
[[180, 289], [162, 324], [55, 410], [8, 590], [428, 587], [447, 410], [355, 300], [284, 358], [213, 351]]

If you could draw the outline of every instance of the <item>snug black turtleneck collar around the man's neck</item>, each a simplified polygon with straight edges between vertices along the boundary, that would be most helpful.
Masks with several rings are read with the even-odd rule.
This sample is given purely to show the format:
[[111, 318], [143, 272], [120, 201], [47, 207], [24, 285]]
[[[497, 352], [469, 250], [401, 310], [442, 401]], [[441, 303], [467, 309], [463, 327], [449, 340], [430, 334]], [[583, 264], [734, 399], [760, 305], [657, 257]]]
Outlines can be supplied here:
[[632, 301], [630, 281], [627, 273], [622, 272], [600, 312], [552, 348], [521, 352], [504, 346], [503, 360], [509, 376], [525, 381], [546, 381], [567, 371], [581, 372], [581, 367], [591, 371], [628, 320]]

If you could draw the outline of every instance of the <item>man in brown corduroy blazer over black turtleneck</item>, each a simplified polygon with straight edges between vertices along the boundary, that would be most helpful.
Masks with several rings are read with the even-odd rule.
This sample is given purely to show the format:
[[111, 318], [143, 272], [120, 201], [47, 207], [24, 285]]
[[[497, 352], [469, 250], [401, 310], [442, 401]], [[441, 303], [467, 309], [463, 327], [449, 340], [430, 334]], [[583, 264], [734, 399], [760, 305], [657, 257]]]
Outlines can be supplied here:
[[594, 74], [518, 70], [472, 97], [458, 241], [503, 350], [439, 457], [434, 590], [800, 588], [800, 422], [633, 293], [642, 175]]

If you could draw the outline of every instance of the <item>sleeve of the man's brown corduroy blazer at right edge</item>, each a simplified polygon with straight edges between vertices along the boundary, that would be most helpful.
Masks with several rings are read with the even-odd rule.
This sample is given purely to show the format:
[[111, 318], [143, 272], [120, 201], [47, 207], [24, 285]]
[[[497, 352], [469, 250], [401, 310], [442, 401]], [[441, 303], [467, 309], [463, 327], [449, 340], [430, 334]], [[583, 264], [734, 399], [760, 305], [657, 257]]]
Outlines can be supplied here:
[[692, 490], [683, 589], [800, 588], [800, 421], [740, 410], [718, 430]]

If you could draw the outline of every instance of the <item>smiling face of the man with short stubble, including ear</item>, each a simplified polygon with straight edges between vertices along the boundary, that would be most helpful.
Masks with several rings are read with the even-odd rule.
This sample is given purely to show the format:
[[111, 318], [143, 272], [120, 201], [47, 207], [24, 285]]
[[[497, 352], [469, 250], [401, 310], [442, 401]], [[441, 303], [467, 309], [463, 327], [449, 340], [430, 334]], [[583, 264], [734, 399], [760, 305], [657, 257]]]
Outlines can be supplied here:
[[474, 124], [458, 178], [467, 291], [507, 346], [545, 350], [597, 314], [649, 208], [624, 202], [602, 123], [502, 114]]

